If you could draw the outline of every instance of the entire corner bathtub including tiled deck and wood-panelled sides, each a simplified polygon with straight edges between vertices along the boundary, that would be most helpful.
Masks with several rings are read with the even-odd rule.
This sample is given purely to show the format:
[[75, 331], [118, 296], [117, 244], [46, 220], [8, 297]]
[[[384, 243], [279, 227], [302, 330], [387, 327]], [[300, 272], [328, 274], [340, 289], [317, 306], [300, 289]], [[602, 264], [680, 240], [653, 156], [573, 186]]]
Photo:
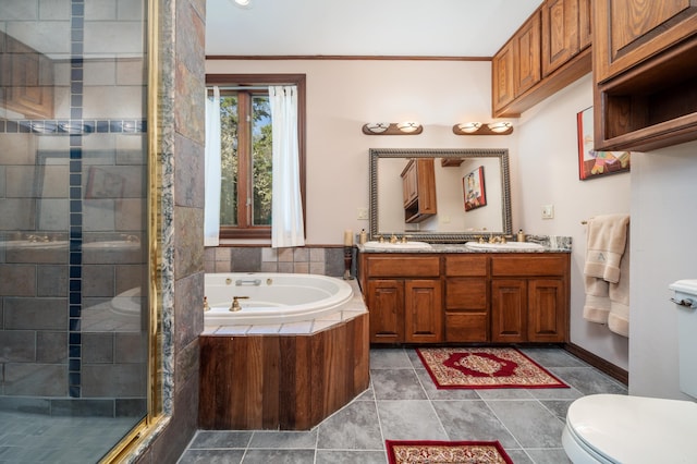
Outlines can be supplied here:
[[[355, 280], [209, 273], [205, 291], [199, 428], [309, 430], [368, 388], [368, 310]], [[248, 296], [236, 313], [233, 296]]]

